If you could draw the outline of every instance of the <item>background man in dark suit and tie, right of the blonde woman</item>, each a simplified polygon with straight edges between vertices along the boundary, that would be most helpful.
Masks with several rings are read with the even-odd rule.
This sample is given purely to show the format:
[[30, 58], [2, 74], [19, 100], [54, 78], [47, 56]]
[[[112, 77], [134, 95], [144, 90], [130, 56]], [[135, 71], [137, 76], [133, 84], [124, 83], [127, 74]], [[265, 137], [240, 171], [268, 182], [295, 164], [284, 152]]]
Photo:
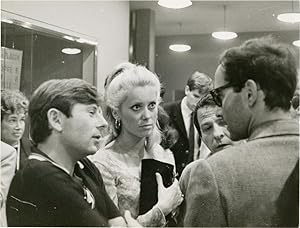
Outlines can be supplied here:
[[200, 141], [198, 141], [199, 135], [195, 131], [192, 113], [197, 102], [208, 94], [211, 88], [212, 79], [197, 71], [187, 81], [185, 97], [182, 100], [163, 105], [170, 117], [170, 125], [179, 134], [177, 142], [171, 147], [175, 157], [178, 178], [188, 163], [198, 159]]

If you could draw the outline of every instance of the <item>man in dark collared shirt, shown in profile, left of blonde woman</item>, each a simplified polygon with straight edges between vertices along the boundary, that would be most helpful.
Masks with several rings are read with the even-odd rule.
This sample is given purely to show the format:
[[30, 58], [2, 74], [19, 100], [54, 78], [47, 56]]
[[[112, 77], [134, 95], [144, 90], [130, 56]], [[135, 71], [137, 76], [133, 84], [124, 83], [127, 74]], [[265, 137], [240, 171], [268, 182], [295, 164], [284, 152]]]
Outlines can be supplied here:
[[30, 105], [35, 147], [13, 178], [9, 226], [126, 226], [86, 158], [100, 147], [107, 126], [96, 88], [80, 79], [50, 80]]

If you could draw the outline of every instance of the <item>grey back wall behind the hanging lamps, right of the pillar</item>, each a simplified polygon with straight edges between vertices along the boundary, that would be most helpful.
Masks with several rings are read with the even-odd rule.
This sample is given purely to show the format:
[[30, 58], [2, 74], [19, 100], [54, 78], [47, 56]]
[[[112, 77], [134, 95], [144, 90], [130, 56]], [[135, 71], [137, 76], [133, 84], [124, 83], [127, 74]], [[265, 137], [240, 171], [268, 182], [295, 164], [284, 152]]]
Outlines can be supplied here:
[[[166, 85], [164, 101], [173, 100], [174, 91], [183, 90], [188, 77], [196, 70], [214, 78], [219, 55], [225, 49], [240, 45], [247, 39], [268, 34], [273, 34], [286, 43], [299, 39], [298, 31], [241, 33], [237, 39], [228, 41], [216, 40], [210, 34], [156, 37], [155, 72], [161, 76], [162, 82]], [[176, 53], [169, 50], [170, 44], [184, 41], [192, 46], [191, 51]], [[293, 46], [292, 50], [299, 63], [299, 49]]]

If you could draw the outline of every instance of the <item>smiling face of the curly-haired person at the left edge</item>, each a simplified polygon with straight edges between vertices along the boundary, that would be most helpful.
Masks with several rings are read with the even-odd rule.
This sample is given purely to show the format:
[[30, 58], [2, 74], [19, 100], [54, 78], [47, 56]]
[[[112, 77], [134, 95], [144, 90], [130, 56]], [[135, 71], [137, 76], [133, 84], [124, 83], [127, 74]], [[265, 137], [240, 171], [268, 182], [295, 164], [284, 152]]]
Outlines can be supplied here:
[[19, 143], [25, 130], [25, 112], [5, 114], [1, 121], [1, 140], [11, 146]]

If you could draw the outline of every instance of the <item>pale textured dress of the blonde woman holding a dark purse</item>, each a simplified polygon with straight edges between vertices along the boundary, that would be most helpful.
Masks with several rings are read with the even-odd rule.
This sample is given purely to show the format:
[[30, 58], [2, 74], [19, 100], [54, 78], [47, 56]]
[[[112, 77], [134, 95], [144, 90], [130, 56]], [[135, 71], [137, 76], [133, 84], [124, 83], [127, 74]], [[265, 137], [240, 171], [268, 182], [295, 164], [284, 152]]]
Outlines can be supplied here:
[[[126, 162], [128, 161], [126, 154], [122, 156], [123, 154], [109, 149], [113, 143], [89, 157], [101, 172], [108, 195], [118, 206], [121, 214], [129, 210], [143, 226], [164, 226], [166, 220], [158, 207], [154, 206], [146, 214], [139, 215], [141, 162], [139, 165], [130, 166]], [[144, 158], [153, 158], [173, 165], [175, 163], [172, 152], [164, 151], [159, 145], [155, 145], [152, 152], [145, 152]]]

